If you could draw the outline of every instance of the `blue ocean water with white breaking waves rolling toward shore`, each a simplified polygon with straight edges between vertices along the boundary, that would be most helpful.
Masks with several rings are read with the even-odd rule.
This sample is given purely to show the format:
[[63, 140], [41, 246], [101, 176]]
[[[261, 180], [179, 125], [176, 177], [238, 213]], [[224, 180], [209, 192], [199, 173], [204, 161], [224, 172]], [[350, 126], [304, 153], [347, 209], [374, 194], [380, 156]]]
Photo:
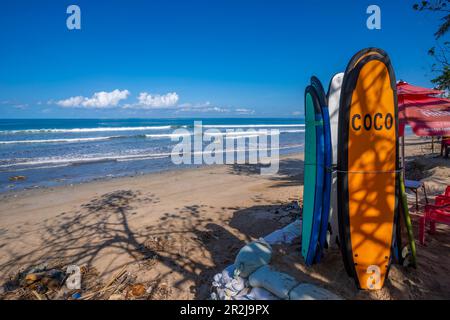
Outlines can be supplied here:
[[[303, 151], [303, 119], [203, 119], [202, 124], [203, 131], [215, 129], [211, 138], [242, 139], [245, 150], [258, 147], [251, 137], [263, 136], [249, 130], [277, 129], [280, 155]], [[193, 132], [194, 119], [0, 120], [0, 192], [198, 166], [171, 160], [182, 137], [193, 145]], [[26, 180], [10, 181], [18, 175]]]

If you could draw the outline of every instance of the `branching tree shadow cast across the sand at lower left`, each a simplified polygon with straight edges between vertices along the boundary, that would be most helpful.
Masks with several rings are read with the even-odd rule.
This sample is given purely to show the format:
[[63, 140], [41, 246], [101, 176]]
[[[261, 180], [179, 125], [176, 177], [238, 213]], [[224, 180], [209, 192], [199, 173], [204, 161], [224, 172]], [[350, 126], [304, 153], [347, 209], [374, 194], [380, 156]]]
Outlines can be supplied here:
[[[100, 259], [99, 271], [108, 269], [110, 274], [132, 264], [139, 265], [137, 272], [143, 273], [159, 265], [162, 272], [152, 282], [170, 281], [170, 286], [180, 290], [193, 283], [191, 296], [208, 298], [213, 275], [233, 262], [244, 242], [222, 226], [225, 222], [213, 223], [207, 217], [211, 210], [224, 209], [212, 206], [186, 205], [165, 213], [156, 223], [132, 227], [136, 204], [147, 204], [151, 214], [151, 204], [157, 201], [152, 194], [118, 190], [81, 204], [73, 213], [63, 212], [43, 221], [37, 226], [42, 229], [41, 239], [32, 250], [21, 254], [3, 250], [7, 262], [0, 265], [0, 272], [12, 275], [19, 268], [27, 270], [43, 263], [91, 267]], [[3, 240], [19, 241], [18, 236]], [[105, 256], [109, 259], [106, 265]], [[174, 273], [180, 275], [176, 280], [171, 277]]]

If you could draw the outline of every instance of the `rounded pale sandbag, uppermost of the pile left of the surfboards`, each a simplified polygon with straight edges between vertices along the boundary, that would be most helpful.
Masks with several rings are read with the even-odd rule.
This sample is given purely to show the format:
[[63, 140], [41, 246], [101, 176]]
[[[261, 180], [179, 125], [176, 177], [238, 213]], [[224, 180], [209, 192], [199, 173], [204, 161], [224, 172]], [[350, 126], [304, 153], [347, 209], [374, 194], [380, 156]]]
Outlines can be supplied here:
[[234, 274], [246, 278], [256, 269], [267, 265], [271, 258], [272, 248], [264, 239], [250, 242], [236, 256]]

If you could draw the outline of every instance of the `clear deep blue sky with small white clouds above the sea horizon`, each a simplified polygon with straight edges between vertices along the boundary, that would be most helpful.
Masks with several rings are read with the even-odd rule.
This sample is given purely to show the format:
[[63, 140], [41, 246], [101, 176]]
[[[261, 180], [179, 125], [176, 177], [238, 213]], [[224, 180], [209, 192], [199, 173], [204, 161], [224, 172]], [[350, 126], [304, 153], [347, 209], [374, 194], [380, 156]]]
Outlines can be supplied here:
[[[415, 1], [8, 1], [0, 10], [0, 118], [294, 117], [359, 49], [431, 86], [438, 18]], [[81, 8], [81, 30], [66, 9]], [[381, 8], [368, 30], [366, 9]], [[103, 93], [101, 93], [103, 92]]]

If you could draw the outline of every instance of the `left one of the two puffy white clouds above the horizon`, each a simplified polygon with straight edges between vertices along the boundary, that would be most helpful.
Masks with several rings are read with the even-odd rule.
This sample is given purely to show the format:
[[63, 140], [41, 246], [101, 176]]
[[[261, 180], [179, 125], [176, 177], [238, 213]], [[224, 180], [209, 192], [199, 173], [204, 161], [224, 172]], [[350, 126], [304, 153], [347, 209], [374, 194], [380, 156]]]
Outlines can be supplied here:
[[128, 90], [114, 90], [111, 92], [96, 92], [91, 98], [83, 96], [70, 97], [56, 102], [60, 107], [85, 107], [85, 108], [107, 108], [115, 107], [121, 100], [128, 98]]

